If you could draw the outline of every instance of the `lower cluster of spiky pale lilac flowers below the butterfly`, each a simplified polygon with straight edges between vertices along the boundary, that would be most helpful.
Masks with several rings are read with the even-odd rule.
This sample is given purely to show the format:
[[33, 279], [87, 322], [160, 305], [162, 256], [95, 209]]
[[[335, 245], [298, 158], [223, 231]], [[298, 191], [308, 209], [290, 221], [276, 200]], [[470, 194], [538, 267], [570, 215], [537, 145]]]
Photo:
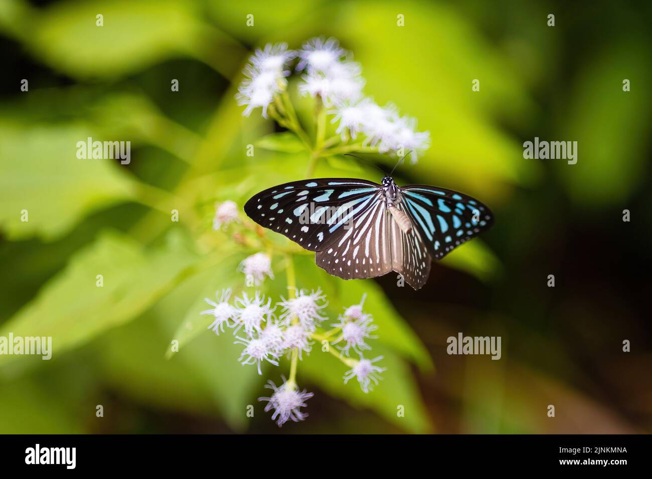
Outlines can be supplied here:
[[[260, 261], [258, 255], [264, 254], [258, 253], [243, 261], [245, 267], [241, 270], [245, 274], [254, 274], [247, 267], [251, 266], [247, 260], [250, 263]], [[254, 257], [258, 259], [252, 260]], [[266, 268], [265, 274], [260, 275], [261, 281], [265, 276], [273, 277], [269, 264]], [[380, 373], [385, 368], [373, 363], [381, 360], [382, 356], [372, 360], [363, 357], [363, 351], [371, 349], [366, 341], [376, 338], [370, 332], [377, 329], [371, 315], [363, 311], [364, 297], [359, 304], [346, 308], [338, 322], [331, 325], [331, 330], [322, 332], [321, 328], [328, 321], [324, 313], [328, 303], [321, 289], [308, 293], [291, 288], [289, 298], [281, 297], [276, 304], [259, 291], [252, 294], [243, 291], [231, 302], [232, 293], [231, 289], [224, 289], [216, 293], [216, 300], [205, 298], [211, 309], [202, 311], [201, 314], [213, 317], [208, 329], [217, 335], [224, 332], [225, 327], [233, 329], [234, 343], [243, 347], [239, 362], [243, 365], [255, 364], [258, 374], [263, 373], [263, 362], [279, 366], [284, 356], [291, 361], [289, 379], [283, 377], [280, 386], [269, 381], [265, 387], [273, 390], [273, 394], [269, 398], [259, 398], [260, 401], [267, 401], [265, 411], [274, 411], [272, 419], [278, 426], [288, 420], [301, 421], [308, 415], [301, 408], [306, 407], [306, 399], [312, 398], [313, 394], [299, 390], [295, 373], [297, 362], [303, 360], [304, 355], [310, 354], [315, 341], [321, 343], [322, 351], [330, 352], [351, 368], [344, 373], [345, 384], [355, 378], [364, 392], [369, 392], [373, 385], [378, 385]], [[335, 349], [330, 349], [331, 345]], [[355, 351], [359, 359], [349, 358], [350, 350]]]

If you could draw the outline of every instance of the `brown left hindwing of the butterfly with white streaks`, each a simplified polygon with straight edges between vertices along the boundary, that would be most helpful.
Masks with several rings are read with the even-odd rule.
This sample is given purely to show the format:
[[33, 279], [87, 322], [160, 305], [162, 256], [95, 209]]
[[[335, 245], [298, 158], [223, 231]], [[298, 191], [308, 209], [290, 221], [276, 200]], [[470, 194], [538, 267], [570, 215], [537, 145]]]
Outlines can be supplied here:
[[345, 280], [374, 278], [392, 270], [389, 232], [393, 219], [384, 195], [379, 189], [372, 206], [359, 214], [344, 234], [325, 242], [325, 248], [315, 255], [319, 267]]

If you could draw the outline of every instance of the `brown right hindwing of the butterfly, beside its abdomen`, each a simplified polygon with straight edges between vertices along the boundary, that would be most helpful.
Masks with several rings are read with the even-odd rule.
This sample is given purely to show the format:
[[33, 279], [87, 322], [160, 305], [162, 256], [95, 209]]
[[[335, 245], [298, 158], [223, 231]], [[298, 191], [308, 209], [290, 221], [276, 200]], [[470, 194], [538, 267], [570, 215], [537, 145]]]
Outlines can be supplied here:
[[[406, 204], [398, 203], [399, 210], [407, 214]], [[428, 254], [426, 243], [412, 222], [412, 229], [404, 233], [398, 226], [391, 214], [387, 215], [390, 243], [392, 245], [392, 269], [405, 279], [414, 289], [421, 287], [428, 281], [430, 276], [430, 263], [432, 259]], [[408, 218], [410, 218], [408, 214]], [[411, 219], [411, 218], [410, 218]]]

